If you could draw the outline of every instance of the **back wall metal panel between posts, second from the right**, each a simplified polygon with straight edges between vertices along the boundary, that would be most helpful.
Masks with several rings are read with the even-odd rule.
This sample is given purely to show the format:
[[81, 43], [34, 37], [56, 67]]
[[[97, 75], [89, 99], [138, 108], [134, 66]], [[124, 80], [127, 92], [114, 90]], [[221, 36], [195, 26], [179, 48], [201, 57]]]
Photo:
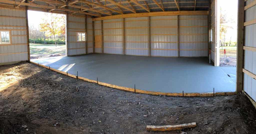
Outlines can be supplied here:
[[151, 56], [178, 56], [177, 16], [153, 16], [151, 24]]

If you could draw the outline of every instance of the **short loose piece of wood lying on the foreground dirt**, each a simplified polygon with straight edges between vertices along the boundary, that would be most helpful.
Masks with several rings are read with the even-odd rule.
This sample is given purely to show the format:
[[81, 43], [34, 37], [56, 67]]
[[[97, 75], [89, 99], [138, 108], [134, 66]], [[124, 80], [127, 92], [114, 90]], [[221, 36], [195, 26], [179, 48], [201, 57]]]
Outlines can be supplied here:
[[171, 130], [181, 130], [185, 128], [196, 127], [196, 122], [180, 124], [180, 125], [167, 125], [167, 126], [147, 126], [148, 131], [171, 131]]

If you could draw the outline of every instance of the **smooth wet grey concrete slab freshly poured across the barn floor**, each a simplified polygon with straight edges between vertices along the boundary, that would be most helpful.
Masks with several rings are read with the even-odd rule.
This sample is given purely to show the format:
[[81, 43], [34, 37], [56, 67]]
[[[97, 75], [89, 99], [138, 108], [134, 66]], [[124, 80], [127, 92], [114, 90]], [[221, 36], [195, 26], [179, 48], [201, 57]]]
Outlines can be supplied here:
[[[31, 59], [70, 74], [118, 86], [161, 92], [232, 92], [236, 67], [214, 67], [208, 58], [112, 54]], [[228, 74], [231, 76], [229, 77]]]

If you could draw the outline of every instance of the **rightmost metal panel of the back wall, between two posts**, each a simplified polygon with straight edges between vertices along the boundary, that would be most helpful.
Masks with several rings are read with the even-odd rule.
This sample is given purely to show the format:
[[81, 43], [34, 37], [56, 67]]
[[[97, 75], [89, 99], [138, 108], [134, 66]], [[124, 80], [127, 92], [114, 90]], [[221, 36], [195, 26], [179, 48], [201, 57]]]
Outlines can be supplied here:
[[181, 15], [180, 25], [180, 56], [208, 56], [208, 16]]

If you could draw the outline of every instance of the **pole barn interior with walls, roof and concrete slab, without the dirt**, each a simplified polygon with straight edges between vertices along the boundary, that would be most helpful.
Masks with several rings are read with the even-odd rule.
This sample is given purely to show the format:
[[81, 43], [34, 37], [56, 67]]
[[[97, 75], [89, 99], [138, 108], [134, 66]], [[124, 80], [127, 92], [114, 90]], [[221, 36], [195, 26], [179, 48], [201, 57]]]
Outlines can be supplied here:
[[[255, 103], [256, 1], [238, 1], [237, 78], [218, 67], [218, 0], [0, 0], [0, 30], [10, 36], [0, 44], [0, 64], [30, 61], [145, 94], [244, 92]], [[67, 57], [30, 60], [28, 10], [66, 15]], [[86, 41], [78, 42], [77, 33]]]

